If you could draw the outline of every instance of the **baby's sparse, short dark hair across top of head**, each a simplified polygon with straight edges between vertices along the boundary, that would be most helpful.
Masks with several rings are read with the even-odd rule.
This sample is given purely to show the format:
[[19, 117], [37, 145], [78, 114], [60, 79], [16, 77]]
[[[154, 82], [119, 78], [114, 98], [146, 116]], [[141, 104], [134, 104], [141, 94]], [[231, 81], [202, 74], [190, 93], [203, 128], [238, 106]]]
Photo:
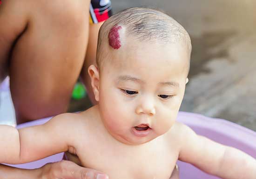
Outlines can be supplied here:
[[129, 8], [110, 17], [100, 28], [96, 55], [99, 70], [102, 59], [109, 57], [108, 33], [114, 26], [123, 26], [125, 35], [138, 41], [169, 44], [183, 40], [189, 52], [192, 48], [188, 32], [167, 14], [154, 8]]

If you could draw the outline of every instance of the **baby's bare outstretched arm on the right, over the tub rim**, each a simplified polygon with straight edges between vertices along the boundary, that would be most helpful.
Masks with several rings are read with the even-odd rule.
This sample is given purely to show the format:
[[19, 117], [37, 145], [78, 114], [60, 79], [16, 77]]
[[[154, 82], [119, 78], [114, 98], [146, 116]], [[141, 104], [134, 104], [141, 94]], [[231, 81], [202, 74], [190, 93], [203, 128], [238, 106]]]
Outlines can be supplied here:
[[182, 125], [179, 160], [223, 179], [255, 179], [256, 160], [248, 154], [197, 135]]

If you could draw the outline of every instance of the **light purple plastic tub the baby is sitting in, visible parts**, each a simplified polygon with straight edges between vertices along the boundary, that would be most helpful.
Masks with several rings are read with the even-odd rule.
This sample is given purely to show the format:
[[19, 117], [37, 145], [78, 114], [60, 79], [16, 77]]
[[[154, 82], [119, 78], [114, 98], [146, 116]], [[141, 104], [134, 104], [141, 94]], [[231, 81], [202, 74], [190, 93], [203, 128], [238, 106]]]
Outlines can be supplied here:
[[[17, 128], [39, 125], [49, 119], [50, 118], [27, 122], [17, 126]], [[256, 158], [256, 132], [248, 128], [244, 128], [230, 121], [187, 112], [179, 112], [177, 120], [193, 128], [197, 134], [207, 136], [222, 144], [236, 147]], [[62, 156], [63, 153], [59, 153], [43, 160], [15, 166], [27, 169], [38, 168], [48, 162], [59, 161], [62, 159]], [[178, 165], [180, 168], [180, 179], [218, 179], [217, 177], [202, 172], [190, 164], [178, 161]], [[211, 164], [209, 163], [209, 165]]]

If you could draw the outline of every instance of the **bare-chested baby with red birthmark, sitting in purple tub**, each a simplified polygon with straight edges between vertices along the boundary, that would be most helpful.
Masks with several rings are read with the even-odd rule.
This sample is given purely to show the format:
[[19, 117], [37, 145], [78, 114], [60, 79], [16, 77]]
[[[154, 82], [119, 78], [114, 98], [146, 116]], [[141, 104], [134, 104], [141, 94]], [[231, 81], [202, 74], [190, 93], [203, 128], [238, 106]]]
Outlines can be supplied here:
[[98, 105], [39, 126], [0, 126], [0, 163], [68, 152], [110, 179], [168, 179], [177, 160], [223, 179], [256, 179], [254, 158], [175, 121], [190, 53], [189, 34], [168, 15], [115, 14], [101, 26], [97, 64], [88, 68]]

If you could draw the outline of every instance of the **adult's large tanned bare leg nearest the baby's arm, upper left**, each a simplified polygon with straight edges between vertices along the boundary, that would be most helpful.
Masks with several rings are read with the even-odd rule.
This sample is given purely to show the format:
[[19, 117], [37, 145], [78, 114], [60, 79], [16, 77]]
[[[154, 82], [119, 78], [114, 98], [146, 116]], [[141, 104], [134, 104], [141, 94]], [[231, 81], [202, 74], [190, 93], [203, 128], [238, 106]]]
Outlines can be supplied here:
[[10, 58], [17, 123], [66, 112], [88, 43], [89, 0], [24, 0], [26, 30]]

